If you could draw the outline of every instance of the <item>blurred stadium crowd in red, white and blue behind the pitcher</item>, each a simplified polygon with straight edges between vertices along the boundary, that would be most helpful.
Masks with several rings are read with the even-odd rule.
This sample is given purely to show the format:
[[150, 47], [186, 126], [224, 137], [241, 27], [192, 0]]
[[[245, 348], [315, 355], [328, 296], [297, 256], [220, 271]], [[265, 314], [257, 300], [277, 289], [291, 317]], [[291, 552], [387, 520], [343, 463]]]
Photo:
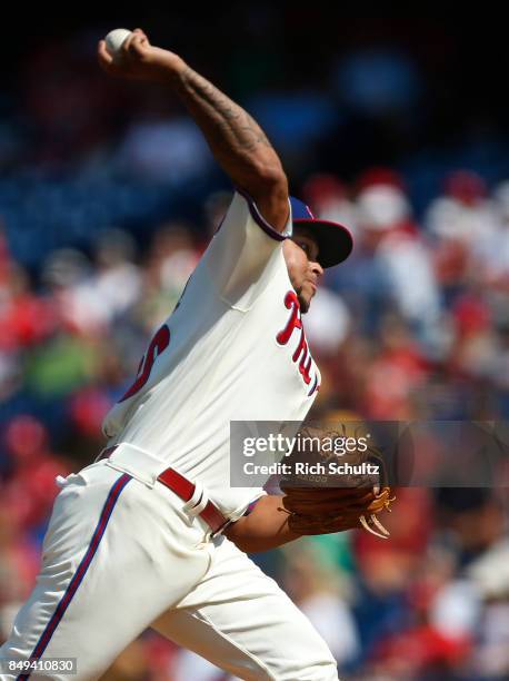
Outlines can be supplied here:
[[[331, 22], [317, 61], [308, 14], [246, 7], [221, 19], [210, 62], [204, 23], [152, 28], [248, 106], [292, 194], [353, 233], [352, 256], [326, 273], [305, 318], [323, 378], [311, 417], [509, 418], [509, 155], [481, 110], [489, 99], [472, 96], [487, 75], [455, 71], [459, 43], [426, 22], [415, 45], [392, 27], [396, 48], [362, 20], [341, 52]], [[229, 42], [240, 24], [251, 49]], [[0, 92], [0, 640], [37, 575], [54, 477], [103, 446], [103, 415], [231, 200], [168, 93], [98, 71], [97, 36], [110, 28], [36, 46]], [[469, 107], [458, 119], [445, 83], [460, 71]], [[253, 557], [345, 679], [508, 679], [503, 473], [485, 487], [398, 490], [390, 541], [342, 533]], [[228, 679], [152, 632], [104, 678]]]

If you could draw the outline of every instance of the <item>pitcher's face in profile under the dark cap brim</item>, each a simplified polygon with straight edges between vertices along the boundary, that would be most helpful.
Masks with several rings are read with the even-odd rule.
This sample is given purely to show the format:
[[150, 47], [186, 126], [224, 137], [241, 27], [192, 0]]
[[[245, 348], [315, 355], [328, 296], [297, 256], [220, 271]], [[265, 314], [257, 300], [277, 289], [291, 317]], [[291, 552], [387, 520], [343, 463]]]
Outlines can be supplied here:
[[300, 310], [307, 313], [323, 274], [318, 263], [318, 245], [308, 231], [297, 227], [292, 238], [285, 241], [283, 254]]

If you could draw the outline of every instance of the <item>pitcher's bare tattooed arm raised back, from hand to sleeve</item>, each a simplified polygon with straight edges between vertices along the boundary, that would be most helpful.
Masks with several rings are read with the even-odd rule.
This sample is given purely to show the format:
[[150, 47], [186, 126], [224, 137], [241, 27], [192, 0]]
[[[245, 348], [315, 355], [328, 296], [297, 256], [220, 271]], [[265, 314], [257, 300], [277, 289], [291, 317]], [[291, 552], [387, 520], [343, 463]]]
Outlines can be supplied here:
[[233, 185], [244, 189], [263, 217], [278, 230], [288, 218], [288, 182], [273, 147], [252, 117], [178, 55], [150, 45], [141, 29], [112, 59], [99, 42], [101, 68], [113, 76], [149, 80], [170, 87], [201, 128], [209, 147]]

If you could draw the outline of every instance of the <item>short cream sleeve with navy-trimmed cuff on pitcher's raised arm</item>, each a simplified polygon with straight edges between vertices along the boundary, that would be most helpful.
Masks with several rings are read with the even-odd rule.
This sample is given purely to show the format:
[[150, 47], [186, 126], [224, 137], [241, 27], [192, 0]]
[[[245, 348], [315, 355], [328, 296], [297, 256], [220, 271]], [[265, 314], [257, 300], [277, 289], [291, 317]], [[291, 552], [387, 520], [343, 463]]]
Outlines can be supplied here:
[[221, 298], [247, 310], [282, 263], [282, 243], [291, 236], [291, 206], [282, 233], [261, 215], [255, 200], [237, 189], [202, 265]]

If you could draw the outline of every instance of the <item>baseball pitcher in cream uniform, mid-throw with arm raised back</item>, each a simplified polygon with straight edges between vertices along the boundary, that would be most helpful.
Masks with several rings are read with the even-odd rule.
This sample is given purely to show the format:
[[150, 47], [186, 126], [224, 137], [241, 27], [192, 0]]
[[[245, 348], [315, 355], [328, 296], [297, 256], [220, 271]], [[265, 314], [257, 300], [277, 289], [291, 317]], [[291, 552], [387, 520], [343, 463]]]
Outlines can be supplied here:
[[[299, 535], [281, 497], [229, 486], [230, 421], [301, 422], [320, 387], [301, 314], [325, 267], [348, 257], [341, 225], [289, 198], [256, 121], [179, 56], [134, 30], [112, 76], [177, 95], [231, 178], [229, 210], [138, 375], [107, 415], [107, 448], [57, 482], [41, 571], [1, 648], [2, 679], [97, 679], [147, 628], [241, 679], [337, 679], [305, 615], [244, 552]], [[232, 453], [233, 455], [233, 453]], [[30, 669], [7, 669], [11, 661]]]

